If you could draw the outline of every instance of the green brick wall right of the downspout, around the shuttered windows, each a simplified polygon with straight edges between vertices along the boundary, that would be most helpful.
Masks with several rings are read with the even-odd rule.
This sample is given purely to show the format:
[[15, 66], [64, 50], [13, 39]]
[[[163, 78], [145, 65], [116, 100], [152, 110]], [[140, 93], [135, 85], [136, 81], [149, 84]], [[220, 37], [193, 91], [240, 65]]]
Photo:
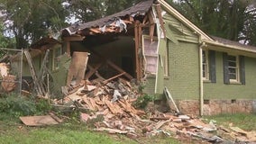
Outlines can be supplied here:
[[245, 85], [224, 84], [223, 52], [216, 52], [216, 83], [204, 82], [204, 99], [255, 99], [256, 58], [245, 57]]

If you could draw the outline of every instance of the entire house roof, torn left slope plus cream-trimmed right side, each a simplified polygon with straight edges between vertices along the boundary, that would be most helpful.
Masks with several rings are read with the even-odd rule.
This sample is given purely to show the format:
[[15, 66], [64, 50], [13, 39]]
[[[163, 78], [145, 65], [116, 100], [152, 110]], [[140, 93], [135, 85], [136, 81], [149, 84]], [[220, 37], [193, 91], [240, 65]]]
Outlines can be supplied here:
[[[69, 35], [85, 35], [85, 31], [92, 31], [93, 33], [103, 33], [105, 32], [105, 27], [109, 27], [110, 32], [116, 31], [114, 30], [116, 27], [121, 27], [122, 24], [132, 23], [133, 20], [125, 21], [127, 18], [134, 18], [135, 16], [145, 15], [151, 8], [151, 5], [154, 3], [155, 0], [143, 0], [142, 2], [133, 5], [130, 8], [123, 10], [122, 12], [112, 14], [109, 16], [105, 16], [104, 18], [98, 19], [96, 21], [88, 22], [88, 23], [77, 23], [65, 28], [61, 31], [62, 36], [69, 36]], [[165, 11], [168, 11], [170, 14], [173, 14], [181, 23], [187, 25], [192, 31], [199, 36], [199, 42], [205, 42], [210, 45], [215, 45], [218, 47], [223, 47], [224, 49], [237, 49], [243, 51], [249, 51], [256, 53], [256, 47], [244, 45], [237, 41], [226, 40], [214, 36], [209, 36], [206, 32], [200, 30], [194, 23], [191, 23], [185, 16], [178, 13], [178, 11], [169, 5], [165, 0], [157, 0], [158, 3], [161, 4], [162, 8]], [[119, 25], [118, 25], [119, 23]], [[114, 28], [113, 28], [114, 27]], [[97, 28], [97, 29], [93, 29]]]

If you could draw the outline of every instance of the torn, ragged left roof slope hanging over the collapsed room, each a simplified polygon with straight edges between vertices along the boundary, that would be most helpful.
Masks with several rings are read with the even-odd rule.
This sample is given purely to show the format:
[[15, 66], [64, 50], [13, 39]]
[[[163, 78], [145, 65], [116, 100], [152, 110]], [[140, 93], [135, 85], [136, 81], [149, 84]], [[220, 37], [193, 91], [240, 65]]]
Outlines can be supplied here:
[[[80, 31], [83, 31], [83, 30], [86, 30], [89, 28], [96, 28], [96, 27], [100, 28], [101, 31], [104, 31], [103, 29], [105, 29], [105, 26], [109, 26], [114, 22], [123, 23], [123, 21], [121, 20], [121, 17], [125, 17], [127, 15], [130, 17], [134, 17], [134, 16], [138, 16], [138, 15], [145, 15], [151, 8], [151, 4], [153, 4], [153, 1], [154, 0], [142, 1], [142, 2], [135, 4], [132, 7], [127, 8], [119, 13], [105, 16], [104, 18], [98, 19], [96, 21], [92, 21], [92, 22], [88, 22], [88, 23], [73, 24], [73, 25], [69, 26], [68, 28], [65, 28], [64, 30], [62, 30], [62, 35], [67, 35], [68, 33], [69, 33], [69, 35], [80, 34]], [[123, 23], [123, 24], [125, 24], [125, 23]]]

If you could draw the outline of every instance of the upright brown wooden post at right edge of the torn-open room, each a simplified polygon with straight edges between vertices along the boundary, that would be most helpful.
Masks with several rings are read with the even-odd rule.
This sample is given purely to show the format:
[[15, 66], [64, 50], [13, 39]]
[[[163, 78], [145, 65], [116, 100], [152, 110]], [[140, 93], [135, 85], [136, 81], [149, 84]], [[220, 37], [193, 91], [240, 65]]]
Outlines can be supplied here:
[[140, 21], [134, 23], [134, 40], [135, 40], [135, 67], [136, 67], [136, 78], [139, 80], [140, 77], [140, 67], [139, 67], [139, 24]]

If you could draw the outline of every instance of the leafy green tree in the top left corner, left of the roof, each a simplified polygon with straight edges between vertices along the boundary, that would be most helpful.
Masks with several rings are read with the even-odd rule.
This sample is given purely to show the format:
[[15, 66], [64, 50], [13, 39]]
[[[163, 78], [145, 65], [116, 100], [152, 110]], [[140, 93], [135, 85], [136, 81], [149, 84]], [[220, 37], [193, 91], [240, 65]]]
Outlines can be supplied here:
[[27, 48], [30, 43], [51, 31], [66, 26], [68, 12], [61, 0], [0, 0], [5, 14], [5, 27], [14, 33], [16, 48]]

